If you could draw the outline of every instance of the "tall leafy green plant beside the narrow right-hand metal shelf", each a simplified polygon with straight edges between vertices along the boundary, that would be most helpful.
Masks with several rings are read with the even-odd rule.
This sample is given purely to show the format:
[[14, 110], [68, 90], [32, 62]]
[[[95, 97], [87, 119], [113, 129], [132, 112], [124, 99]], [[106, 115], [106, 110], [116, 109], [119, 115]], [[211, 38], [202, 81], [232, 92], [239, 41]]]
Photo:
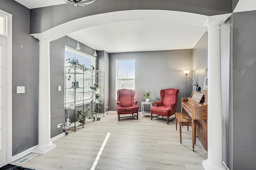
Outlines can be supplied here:
[[100, 117], [100, 113], [99, 113], [100, 106], [97, 106], [97, 103], [100, 102], [100, 94], [97, 94], [99, 85], [94, 83], [93, 86], [90, 86], [90, 89], [92, 89], [91, 104], [93, 104], [93, 102], [94, 102], [94, 107], [92, 109], [92, 111], [94, 111], [94, 112], [92, 113], [92, 115], [96, 115], [97, 120], [98, 120], [98, 117]]

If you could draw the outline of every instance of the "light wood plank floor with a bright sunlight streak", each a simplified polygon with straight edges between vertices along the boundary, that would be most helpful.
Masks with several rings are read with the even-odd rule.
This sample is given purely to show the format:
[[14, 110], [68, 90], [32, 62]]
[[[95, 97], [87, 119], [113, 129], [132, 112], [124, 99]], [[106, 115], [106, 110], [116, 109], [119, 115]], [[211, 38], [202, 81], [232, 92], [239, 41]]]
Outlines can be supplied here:
[[116, 113], [87, 122], [84, 128], [54, 141], [57, 147], [46, 154], [12, 164], [36, 170], [90, 170], [108, 132], [111, 135], [96, 170], [204, 170], [202, 160], [207, 159], [207, 153], [198, 139], [192, 151], [191, 127], [189, 131], [182, 128], [180, 144], [175, 120], [167, 125], [139, 114], [138, 120], [132, 117], [118, 122]]

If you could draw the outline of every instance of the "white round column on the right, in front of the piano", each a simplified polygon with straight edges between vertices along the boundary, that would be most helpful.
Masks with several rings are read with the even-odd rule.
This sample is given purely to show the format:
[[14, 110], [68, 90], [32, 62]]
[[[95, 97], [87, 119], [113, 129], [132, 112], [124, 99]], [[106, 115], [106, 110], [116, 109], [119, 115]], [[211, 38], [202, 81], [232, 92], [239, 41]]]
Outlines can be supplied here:
[[222, 159], [222, 92], [220, 63], [220, 25], [227, 16], [210, 17], [208, 28], [208, 159], [205, 170], [225, 170]]

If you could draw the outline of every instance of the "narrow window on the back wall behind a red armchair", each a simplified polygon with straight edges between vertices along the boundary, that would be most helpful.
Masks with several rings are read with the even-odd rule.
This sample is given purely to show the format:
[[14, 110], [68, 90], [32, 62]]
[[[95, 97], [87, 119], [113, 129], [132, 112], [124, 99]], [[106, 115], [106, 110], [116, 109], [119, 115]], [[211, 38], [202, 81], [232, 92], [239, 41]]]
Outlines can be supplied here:
[[116, 60], [116, 91], [121, 88], [135, 89], [135, 59]]

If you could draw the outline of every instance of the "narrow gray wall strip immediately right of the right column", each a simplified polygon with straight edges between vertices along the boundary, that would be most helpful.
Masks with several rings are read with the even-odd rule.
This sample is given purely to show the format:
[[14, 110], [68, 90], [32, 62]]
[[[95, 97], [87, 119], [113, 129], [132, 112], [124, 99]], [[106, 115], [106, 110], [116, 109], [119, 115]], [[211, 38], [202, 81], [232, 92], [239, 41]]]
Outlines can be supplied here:
[[232, 169], [232, 111], [230, 110], [230, 98], [232, 92], [232, 83], [230, 83], [230, 67], [232, 53], [232, 17], [228, 18], [221, 25], [221, 88], [222, 88], [222, 144], [223, 161]]

